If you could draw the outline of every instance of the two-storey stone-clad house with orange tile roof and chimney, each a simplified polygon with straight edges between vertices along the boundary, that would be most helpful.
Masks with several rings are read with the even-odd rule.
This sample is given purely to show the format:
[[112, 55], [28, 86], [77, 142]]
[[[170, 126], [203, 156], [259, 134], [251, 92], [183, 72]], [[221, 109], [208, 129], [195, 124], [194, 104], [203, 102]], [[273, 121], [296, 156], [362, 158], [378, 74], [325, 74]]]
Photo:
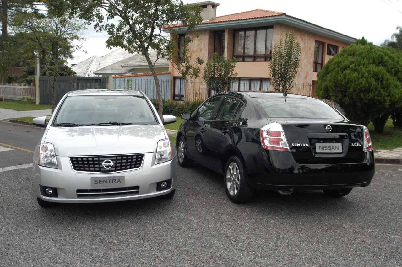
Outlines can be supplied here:
[[[293, 30], [301, 46], [299, 72], [295, 82], [302, 86], [296, 86], [291, 92], [314, 96], [317, 72], [333, 55], [356, 41], [353, 37], [283, 12], [256, 9], [217, 17], [218, 3], [206, 1], [198, 4], [203, 8], [203, 22], [196, 30], [200, 34], [199, 38], [194, 33], [186, 33], [180, 29], [182, 24], [164, 25], [164, 31], [169, 32], [171, 28], [178, 31], [178, 47], [185, 40], [185, 35], [189, 35], [193, 41], [188, 48], [194, 60], [201, 57], [206, 63], [212, 59], [214, 52], [228, 58], [236, 57], [239, 79], [232, 83], [231, 91], [271, 90], [269, 65], [272, 48], [279, 39], [285, 38], [288, 31]], [[201, 66], [201, 69], [204, 66]], [[211, 94], [205, 86], [189, 88], [191, 83], [180, 77], [172, 63], [169, 69], [173, 88], [172, 100], [195, 100], [197, 96]]]

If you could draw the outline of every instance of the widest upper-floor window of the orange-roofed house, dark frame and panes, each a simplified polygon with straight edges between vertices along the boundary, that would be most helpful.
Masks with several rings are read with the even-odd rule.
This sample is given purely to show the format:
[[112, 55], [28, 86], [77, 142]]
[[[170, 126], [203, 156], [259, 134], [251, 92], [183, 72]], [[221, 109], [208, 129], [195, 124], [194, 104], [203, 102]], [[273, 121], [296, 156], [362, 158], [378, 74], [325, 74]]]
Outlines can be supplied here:
[[238, 62], [270, 61], [273, 28], [234, 31], [233, 56]]

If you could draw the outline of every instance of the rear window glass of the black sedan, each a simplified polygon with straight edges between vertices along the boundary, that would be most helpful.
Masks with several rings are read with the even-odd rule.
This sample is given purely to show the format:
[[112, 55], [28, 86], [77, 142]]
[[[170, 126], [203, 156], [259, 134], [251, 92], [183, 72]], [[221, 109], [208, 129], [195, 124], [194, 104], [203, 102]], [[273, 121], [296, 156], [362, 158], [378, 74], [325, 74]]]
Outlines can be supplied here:
[[254, 100], [261, 116], [269, 118], [341, 119], [340, 113], [328, 104], [303, 98], [257, 98]]

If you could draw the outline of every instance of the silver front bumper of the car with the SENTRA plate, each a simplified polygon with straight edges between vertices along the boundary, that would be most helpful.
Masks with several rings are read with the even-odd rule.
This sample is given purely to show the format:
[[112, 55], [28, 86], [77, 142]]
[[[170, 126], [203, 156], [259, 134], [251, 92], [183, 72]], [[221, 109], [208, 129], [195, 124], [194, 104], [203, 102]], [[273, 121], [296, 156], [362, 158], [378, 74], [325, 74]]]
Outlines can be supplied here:
[[[33, 185], [37, 197], [48, 202], [59, 203], [94, 203], [94, 202], [115, 202], [124, 200], [133, 200], [141, 198], [152, 198], [169, 194], [176, 188], [177, 182], [177, 159], [176, 155], [170, 161], [155, 164], [156, 153], [145, 153], [142, 166], [139, 169], [117, 172], [117, 173], [88, 173], [74, 171], [69, 157], [58, 157], [58, 169], [42, 167], [33, 163]], [[100, 190], [105, 191], [114, 188], [113, 186], [92, 187], [91, 177], [99, 177], [102, 179], [113, 179], [116, 176], [124, 176], [124, 186], [116, 188], [136, 188], [135, 192], [129, 195], [124, 194], [88, 194], [83, 196], [77, 194], [82, 190]], [[158, 182], [171, 179], [169, 188], [158, 191]], [[41, 185], [57, 189], [57, 197], [47, 197], [41, 194]], [[79, 190], [77, 192], [77, 190]], [[43, 190], [42, 190], [43, 191]]]

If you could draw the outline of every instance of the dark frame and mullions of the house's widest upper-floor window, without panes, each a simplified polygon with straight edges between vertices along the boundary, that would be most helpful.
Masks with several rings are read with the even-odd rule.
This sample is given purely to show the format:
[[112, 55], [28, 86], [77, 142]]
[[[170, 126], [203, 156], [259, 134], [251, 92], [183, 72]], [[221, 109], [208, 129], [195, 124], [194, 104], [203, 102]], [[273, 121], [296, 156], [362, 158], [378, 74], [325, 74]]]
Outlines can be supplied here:
[[[256, 36], [257, 36], [257, 31], [258, 30], [263, 30], [263, 29], [265, 29], [265, 53], [264, 54], [256, 54], [255, 52], [256, 52], [256, 44], [257, 44], [257, 38], [256, 38]], [[243, 45], [242, 45], [242, 50], [243, 50], [243, 52], [242, 52], [242, 55], [236, 55], [235, 54], [235, 44], [236, 44], [236, 41], [235, 41], [235, 38], [236, 38], [236, 32], [243, 32], [244, 33], [244, 36], [246, 35], [246, 31], [253, 31], [254, 30], [254, 54], [253, 55], [245, 55], [244, 53], [245, 53], [245, 49], [246, 49], [246, 45], [245, 45], [245, 43], [246, 43], [246, 39], [245, 38], [243, 38]], [[267, 30], [273, 30], [273, 26], [265, 26], [265, 27], [254, 27], [254, 28], [244, 28], [244, 29], [234, 29], [234, 31], [233, 31], [233, 57], [236, 57], [236, 59], [237, 59], [237, 62], [266, 62], [266, 61], [271, 61], [271, 59], [272, 59], [272, 37], [273, 37], [273, 34], [272, 34], [272, 37], [271, 37], [271, 53], [270, 54], [267, 54]], [[250, 60], [250, 61], [245, 61], [244, 60], [244, 58], [245, 57], [252, 57], [252, 60]], [[264, 60], [255, 60], [256, 59], [256, 57], [264, 57]], [[241, 58], [241, 59], [239, 59], [239, 58]]]

